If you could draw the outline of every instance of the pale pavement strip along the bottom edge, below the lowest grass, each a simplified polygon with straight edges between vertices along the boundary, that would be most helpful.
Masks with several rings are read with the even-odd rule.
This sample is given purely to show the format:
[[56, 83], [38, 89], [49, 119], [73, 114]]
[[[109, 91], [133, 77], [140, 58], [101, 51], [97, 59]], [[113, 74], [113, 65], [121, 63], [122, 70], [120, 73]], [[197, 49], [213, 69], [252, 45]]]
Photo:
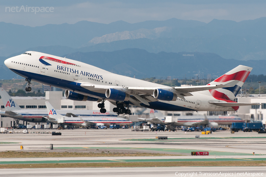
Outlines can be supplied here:
[[[185, 174], [186, 173], [186, 174]], [[207, 175], [205, 174], [207, 173]], [[213, 174], [214, 175], [211, 175]], [[240, 175], [241, 173], [241, 175]], [[24, 168], [1, 169], [2, 176], [266, 176], [265, 167]], [[217, 175], [218, 174], [218, 175]], [[219, 175], [220, 174], [220, 175]], [[258, 174], [258, 175], [256, 175]], [[245, 175], [250, 176], [250, 175]], [[252, 176], [252, 175], [251, 175]]]

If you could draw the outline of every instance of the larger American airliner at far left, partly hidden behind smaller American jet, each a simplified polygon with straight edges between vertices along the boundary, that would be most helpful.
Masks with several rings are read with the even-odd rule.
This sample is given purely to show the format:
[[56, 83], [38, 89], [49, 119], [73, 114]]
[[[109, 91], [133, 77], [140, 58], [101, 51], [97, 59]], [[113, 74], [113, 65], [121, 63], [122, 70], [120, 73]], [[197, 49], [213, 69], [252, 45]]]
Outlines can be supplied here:
[[[47, 122], [45, 118], [48, 116], [45, 109], [21, 109], [20, 106], [9, 96], [9, 94], [0, 88], [0, 95], [4, 103], [5, 111], [0, 111], [0, 115], [11, 117], [14, 119], [27, 121], [27, 122]], [[68, 112], [72, 112], [78, 116], [105, 116], [105, 117], [117, 117], [116, 113], [106, 112], [100, 113], [97, 110], [57, 110], [62, 115], [67, 115]]]

